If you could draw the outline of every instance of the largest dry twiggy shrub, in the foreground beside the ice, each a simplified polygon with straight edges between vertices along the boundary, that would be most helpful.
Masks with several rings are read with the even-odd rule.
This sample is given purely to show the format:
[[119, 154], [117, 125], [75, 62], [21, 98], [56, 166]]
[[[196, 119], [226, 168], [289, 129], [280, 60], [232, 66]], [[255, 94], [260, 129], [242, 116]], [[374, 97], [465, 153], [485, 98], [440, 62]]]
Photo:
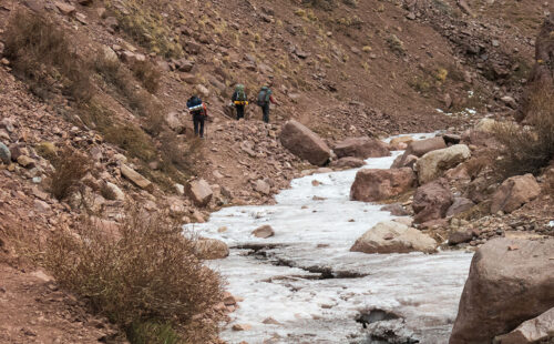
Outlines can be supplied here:
[[222, 301], [222, 281], [195, 255], [194, 237], [167, 217], [130, 211], [116, 231], [83, 220], [76, 233], [52, 233], [44, 264], [132, 343], [207, 343], [220, 321], [211, 310]]

